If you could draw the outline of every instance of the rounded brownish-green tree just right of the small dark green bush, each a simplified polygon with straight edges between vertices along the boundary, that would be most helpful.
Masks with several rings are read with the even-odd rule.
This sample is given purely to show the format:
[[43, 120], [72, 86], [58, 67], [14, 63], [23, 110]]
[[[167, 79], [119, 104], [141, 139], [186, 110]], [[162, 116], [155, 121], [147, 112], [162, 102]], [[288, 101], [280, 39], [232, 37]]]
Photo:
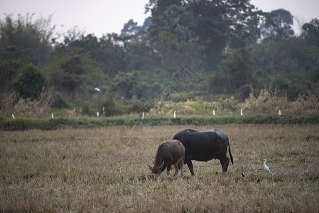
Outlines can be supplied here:
[[53, 57], [45, 65], [45, 74], [48, 84], [55, 91], [65, 94], [65, 98], [74, 100], [76, 94], [85, 98], [85, 92], [104, 84], [107, 76], [104, 75], [96, 60], [89, 54], [72, 50], [64, 53], [53, 53]]

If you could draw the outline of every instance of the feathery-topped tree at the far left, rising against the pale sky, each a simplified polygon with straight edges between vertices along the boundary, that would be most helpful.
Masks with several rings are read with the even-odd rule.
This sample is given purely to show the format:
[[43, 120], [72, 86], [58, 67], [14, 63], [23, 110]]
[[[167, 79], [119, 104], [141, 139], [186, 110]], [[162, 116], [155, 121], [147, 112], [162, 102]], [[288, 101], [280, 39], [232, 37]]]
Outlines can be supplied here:
[[0, 58], [28, 58], [38, 67], [42, 66], [50, 54], [54, 26], [50, 26], [51, 17], [33, 21], [33, 15], [6, 15], [0, 20]]

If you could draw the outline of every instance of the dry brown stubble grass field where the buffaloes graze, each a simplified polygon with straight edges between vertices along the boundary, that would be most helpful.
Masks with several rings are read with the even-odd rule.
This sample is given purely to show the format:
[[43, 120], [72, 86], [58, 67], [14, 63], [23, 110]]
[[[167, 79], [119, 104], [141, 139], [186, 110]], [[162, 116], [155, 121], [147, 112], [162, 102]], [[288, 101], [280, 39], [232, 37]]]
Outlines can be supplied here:
[[195, 177], [151, 175], [158, 145], [188, 128], [212, 129], [0, 131], [0, 212], [319, 212], [318, 125], [214, 126], [229, 136], [227, 173], [211, 160]]

